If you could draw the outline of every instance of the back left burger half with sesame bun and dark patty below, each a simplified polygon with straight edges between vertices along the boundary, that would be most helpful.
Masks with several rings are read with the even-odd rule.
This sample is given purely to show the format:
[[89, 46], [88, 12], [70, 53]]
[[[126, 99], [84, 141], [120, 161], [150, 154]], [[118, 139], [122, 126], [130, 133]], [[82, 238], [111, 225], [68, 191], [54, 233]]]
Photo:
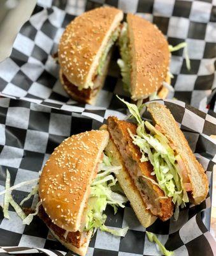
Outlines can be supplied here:
[[119, 37], [121, 10], [101, 7], [76, 17], [59, 42], [59, 76], [78, 102], [93, 104], [108, 71], [112, 45]]

